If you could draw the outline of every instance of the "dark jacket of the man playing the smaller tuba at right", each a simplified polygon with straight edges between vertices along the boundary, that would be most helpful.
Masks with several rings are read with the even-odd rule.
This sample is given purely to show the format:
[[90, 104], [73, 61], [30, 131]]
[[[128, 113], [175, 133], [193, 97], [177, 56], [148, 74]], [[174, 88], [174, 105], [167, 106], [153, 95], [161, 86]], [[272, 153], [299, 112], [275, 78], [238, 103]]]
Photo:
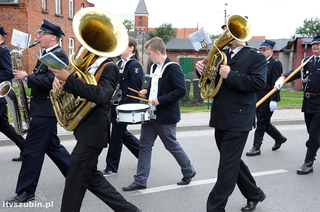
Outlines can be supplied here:
[[[229, 49], [223, 50], [226, 55]], [[219, 61], [219, 58], [218, 58]], [[209, 126], [226, 131], [251, 131], [255, 126], [256, 93], [267, 80], [267, 60], [258, 49], [242, 48], [228, 60], [230, 72], [213, 97]], [[200, 74], [197, 72], [198, 77]], [[216, 82], [220, 74], [217, 73]]]

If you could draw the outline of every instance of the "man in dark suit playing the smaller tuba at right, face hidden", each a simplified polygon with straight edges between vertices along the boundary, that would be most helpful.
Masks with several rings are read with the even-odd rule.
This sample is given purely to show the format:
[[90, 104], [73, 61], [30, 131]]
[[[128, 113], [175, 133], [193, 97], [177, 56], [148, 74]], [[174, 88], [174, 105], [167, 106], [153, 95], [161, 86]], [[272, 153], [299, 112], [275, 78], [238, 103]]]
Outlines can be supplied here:
[[[245, 46], [236, 46], [245, 45]], [[241, 160], [249, 131], [255, 125], [256, 92], [264, 89], [267, 78], [266, 57], [258, 49], [248, 48], [245, 42], [232, 41], [228, 65], [221, 65], [218, 77], [223, 78], [218, 94], [213, 98], [210, 127], [220, 151], [218, 178], [207, 200], [207, 212], [225, 211], [228, 197], [236, 184], [247, 199], [241, 211], [253, 211], [266, 195], [256, 186], [249, 168]], [[206, 58], [205, 58], [206, 59]], [[218, 60], [219, 61], [219, 58]], [[204, 62], [196, 63], [197, 75]]]

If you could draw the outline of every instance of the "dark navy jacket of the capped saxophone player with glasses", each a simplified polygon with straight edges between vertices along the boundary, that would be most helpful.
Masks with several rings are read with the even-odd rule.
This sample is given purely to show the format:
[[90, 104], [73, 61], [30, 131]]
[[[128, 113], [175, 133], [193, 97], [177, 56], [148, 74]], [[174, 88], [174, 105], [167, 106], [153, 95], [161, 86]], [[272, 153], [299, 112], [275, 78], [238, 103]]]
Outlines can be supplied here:
[[[58, 48], [61, 49], [61, 47], [58, 45], [57, 47], [51, 49], [50, 52]], [[62, 49], [55, 52], [54, 55], [62, 60], [65, 64], [69, 64], [68, 56]], [[35, 75], [28, 75], [27, 79], [28, 87], [31, 88], [29, 116], [55, 117], [50, 100], [50, 90], [52, 89], [54, 73], [52, 73], [45, 64], [42, 64], [41, 67], [38, 67], [40, 64], [41, 61], [38, 60], [33, 73], [36, 73], [38, 69], [40, 70]]]

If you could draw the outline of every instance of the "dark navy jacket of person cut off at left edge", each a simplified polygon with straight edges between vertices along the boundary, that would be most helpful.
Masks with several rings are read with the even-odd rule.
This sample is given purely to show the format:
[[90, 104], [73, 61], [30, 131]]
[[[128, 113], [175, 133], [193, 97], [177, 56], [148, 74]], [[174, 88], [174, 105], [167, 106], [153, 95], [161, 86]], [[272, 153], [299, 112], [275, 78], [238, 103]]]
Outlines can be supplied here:
[[[14, 76], [12, 74], [10, 49], [6, 46], [5, 42], [2, 42], [0, 46], [0, 83], [10, 81], [12, 86], [12, 78]], [[4, 97], [0, 98], [0, 103], [6, 103]]]

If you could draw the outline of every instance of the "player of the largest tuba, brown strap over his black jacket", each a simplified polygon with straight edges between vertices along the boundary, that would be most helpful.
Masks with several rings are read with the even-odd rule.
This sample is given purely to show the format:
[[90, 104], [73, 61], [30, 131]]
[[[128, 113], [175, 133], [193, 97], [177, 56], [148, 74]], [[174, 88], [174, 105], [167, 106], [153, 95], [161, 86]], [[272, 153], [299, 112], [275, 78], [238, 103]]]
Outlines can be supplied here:
[[110, 139], [110, 97], [118, 85], [118, 66], [111, 58], [98, 58], [87, 69], [94, 76], [100, 76], [96, 79], [97, 85], [77, 80], [66, 70], [49, 69], [56, 76], [52, 84], [55, 93], [61, 88], [60, 82], [65, 81], [63, 91], [97, 104], [74, 130], [77, 143], [70, 157], [61, 211], [80, 211], [84, 194], [89, 189], [116, 212], [140, 212], [139, 208], [126, 201], [103, 177], [101, 171], [97, 170], [98, 157]]

